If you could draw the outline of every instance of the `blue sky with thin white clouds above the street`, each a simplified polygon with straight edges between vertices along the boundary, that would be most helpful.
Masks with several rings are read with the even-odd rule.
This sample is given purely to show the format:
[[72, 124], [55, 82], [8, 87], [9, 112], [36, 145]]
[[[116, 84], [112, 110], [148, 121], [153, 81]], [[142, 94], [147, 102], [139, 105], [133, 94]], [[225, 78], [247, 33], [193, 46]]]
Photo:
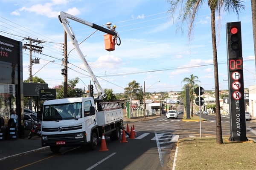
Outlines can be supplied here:
[[[243, 0], [245, 9], [239, 14], [221, 12], [216, 16], [219, 89], [228, 89], [226, 23], [241, 21], [244, 60], [244, 87], [256, 85], [253, 30], [250, 0]], [[43, 40], [40, 64], [32, 66], [32, 75], [47, 82], [48, 87], [64, 82], [61, 75], [64, 28], [58, 12], [67, 12], [99, 26], [116, 25], [121, 44], [115, 51], [105, 50], [104, 32], [69, 20], [80, 49], [103, 89], [122, 93], [128, 83], [136, 81], [146, 92], [178, 92], [184, 78], [198, 76], [205, 90], [214, 91], [210, 9], [203, 4], [195, 19], [192, 41], [177, 30], [181, 23], [168, 13], [166, 0], [0, 0], [0, 34], [28, 43], [24, 37]], [[178, 12], [178, 11], [177, 11]], [[176, 21], [176, 22], [173, 22]], [[220, 21], [220, 22], [219, 22]], [[217, 25], [217, 23], [220, 23]], [[105, 26], [103, 26], [105, 27]], [[105, 27], [106, 28], [106, 27]], [[68, 80], [80, 78], [76, 87], [87, 89], [92, 80], [73, 44], [67, 39]], [[33, 45], [36, 45], [34, 43]], [[55, 61], [49, 62], [49, 61]], [[23, 80], [29, 78], [29, 50], [23, 49]], [[92, 83], [91, 83], [92, 84]], [[96, 90], [94, 90], [96, 92]]]

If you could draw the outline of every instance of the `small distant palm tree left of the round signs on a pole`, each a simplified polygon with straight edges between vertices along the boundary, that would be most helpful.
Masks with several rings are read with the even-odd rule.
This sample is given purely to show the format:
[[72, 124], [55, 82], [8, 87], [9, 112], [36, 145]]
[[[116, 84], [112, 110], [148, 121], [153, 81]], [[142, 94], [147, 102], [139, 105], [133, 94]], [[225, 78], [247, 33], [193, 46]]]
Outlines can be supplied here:
[[[189, 85], [189, 92], [190, 92], [190, 98], [189, 98], [189, 100], [190, 100], [190, 107], [191, 107], [191, 110], [192, 110], [192, 112], [191, 112], [191, 116], [192, 117], [194, 117], [194, 115], [193, 115], [193, 100], [194, 100], [194, 96], [193, 96], [193, 91], [194, 91], [194, 86], [195, 86], [195, 82], [200, 82], [201, 83], [201, 81], [199, 81], [198, 80], [198, 76], [194, 76], [193, 74], [192, 75], [190, 75], [190, 77], [188, 78], [188, 77], [185, 77], [184, 79], [183, 79], [183, 81], [181, 81], [181, 83], [180, 84], [182, 84], [182, 82], [183, 83], [187, 83], [186, 85]], [[194, 89], [193, 89], [194, 88]]]

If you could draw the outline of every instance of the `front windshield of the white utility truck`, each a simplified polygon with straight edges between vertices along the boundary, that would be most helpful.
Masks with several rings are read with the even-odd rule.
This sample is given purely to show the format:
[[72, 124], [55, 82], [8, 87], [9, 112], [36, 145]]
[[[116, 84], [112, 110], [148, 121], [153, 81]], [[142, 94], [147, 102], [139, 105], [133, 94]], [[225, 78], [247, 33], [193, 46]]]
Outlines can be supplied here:
[[82, 118], [81, 102], [44, 106], [43, 121], [60, 121]]

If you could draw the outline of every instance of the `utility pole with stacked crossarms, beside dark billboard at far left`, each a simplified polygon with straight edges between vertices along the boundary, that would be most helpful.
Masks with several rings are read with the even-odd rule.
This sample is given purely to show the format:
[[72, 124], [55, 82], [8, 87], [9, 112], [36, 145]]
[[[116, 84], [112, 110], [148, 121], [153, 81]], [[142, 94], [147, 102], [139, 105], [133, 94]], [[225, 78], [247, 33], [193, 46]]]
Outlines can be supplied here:
[[[30, 37], [25, 37], [25, 40], [29, 40], [29, 44], [23, 44], [23, 49], [29, 49], [29, 83], [32, 83], [32, 65], [39, 63], [38, 59], [35, 59], [32, 61], [32, 52], [42, 52], [42, 49], [44, 47], [42, 46], [37, 46], [37, 45], [32, 45], [32, 43], [44, 43], [42, 40], [38, 39], [32, 39]], [[29, 109], [32, 110], [32, 97], [29, 97]]]

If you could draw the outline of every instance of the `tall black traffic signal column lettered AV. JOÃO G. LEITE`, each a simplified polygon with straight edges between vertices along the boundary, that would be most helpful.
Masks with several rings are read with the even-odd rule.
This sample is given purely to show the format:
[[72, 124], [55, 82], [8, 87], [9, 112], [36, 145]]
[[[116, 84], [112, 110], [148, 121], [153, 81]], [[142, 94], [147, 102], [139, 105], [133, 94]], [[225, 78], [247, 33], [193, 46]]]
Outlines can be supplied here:
[[230, 141], [248, 141], [244, 107], [244, 76], [241, 22], [226, 24], [227, 67], [230, 98]]

